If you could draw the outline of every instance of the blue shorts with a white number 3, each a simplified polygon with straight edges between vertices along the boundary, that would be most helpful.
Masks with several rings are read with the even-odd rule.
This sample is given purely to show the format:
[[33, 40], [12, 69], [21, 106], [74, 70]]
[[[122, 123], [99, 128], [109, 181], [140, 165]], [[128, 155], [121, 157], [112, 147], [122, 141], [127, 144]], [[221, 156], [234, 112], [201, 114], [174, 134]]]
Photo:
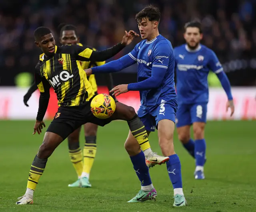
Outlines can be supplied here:
[[140, 105], [138, 117], [140, 117], [147, 131], [154, 132], [157, 129], [158, 122], [162, 119], [169, 119], [175, 123], [177, 108], [176, 99], [166, 101], [158, 106]]

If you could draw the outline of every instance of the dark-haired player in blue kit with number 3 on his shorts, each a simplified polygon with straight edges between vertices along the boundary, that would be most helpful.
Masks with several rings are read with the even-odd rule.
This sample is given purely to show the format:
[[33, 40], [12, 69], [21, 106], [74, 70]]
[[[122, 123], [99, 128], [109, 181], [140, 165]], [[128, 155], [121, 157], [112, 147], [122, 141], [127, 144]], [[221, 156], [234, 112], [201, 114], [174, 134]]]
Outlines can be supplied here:
[[[158, 129], [160, 148], [166, 162], [169, 178], [174, 188], [173, 206], [185, 206], [186, 199], [182, 190], [181, 164], [174, 152], [173, 133], [177, 110], [177, 96], [174, 89], [174, 52], [172, 44], [158, 32], [160, 11], [147, 6], [138, 14], [136, 21], [142, 37], [132, 52], [118, 60], [100, 67], [87, 69], [86, 73], [116, 72], [134, 63], [138, 64], [138, 82], [118, 85], [111, 92], [120, 95], [128, 91], [140, 91], [141, 106], [138, 117], [144, 123], [148, 134]], [[150, 179], [149, 168], [145, 162], [147, 151], [142, 151], [138, 142], [129, 132], [125, 148], [134, 170], [140, 179], [141, 190], [129, 202], [142, 202], [156, 198], [156, 190]], [[148, 151], [151, 151], [148, 150]], [[145, 153], [145, 155], [144, 155]], [[154, 165], [154, 164], [153, 164]]]

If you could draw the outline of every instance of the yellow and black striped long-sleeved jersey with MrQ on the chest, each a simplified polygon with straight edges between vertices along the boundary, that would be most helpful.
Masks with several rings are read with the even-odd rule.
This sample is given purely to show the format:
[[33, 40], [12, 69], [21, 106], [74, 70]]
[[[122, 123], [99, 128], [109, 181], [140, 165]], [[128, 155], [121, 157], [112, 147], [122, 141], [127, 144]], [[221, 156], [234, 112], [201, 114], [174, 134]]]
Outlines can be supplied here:
[[35, 70], [35, 83], [40, 90], [36, 120], [42, 121], [50, 99], [50, 87], [54, 88], [59, 106], [77, 106], [88, 102], [94, 91], [80, 61], [105, 61], [120, 52], [125, 46], [118, 43], [102, 51], [70, 45], [55, 46], [54, 55], [43, 53]]

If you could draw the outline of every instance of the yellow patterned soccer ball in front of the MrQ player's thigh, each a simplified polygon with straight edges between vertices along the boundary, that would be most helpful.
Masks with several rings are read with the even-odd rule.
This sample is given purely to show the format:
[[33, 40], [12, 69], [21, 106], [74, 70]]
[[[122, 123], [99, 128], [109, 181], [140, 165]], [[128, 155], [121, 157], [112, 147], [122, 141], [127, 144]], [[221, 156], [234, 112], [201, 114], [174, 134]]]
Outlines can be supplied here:
[[107, 119], [116, 110], [116, 103], [112, 96], [105, 93], [96, 95], [91, 101], [91, 111], [99, 119]]

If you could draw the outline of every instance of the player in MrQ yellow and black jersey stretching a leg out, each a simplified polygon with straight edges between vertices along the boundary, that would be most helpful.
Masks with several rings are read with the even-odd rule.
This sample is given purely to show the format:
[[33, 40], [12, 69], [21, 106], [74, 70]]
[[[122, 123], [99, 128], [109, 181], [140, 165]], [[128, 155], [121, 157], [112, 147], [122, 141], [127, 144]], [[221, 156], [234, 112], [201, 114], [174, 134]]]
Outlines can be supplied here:
[[[42, 176], [48, 158], [54, 150], [78, 127], [86, 123], [104, 126], [113, 120], [125, 120], [132, 135], [138, 143], [136, 149], [140, 151], [139, 143], [149, 143], [145, 126], [140, 121], [134, 108], [116, 103], [116, 110], [108, 119], [98, 119], [90, 110], [90, 103], [94, 97], [92, 86], [88, 82], [85, 71], [79, 61], [104, 61], [114, 56], [127, 44], [138, 36], [134, 31], [126, 32], [122, 42], [103, 51], [93, 51], [78, 45], [56, 46], [50, 29], [37, 28], [34, 32], [35, 44], [42, 50], [40, 61], [36, 65], [35, 81], [40, 90], [39, 107], [34, 125], [34, 133], [42, 133], [44, 115], [50, 99], [50, 86], [54, 88], [58, 98], [58, 111], [50, 123], [38, 153], [32, 162], [26, 193], [18, 198], [16, 204], [32, 204], [34, 190]], [[111, 105], [109, 105], [111, 107]], [[145, 157], [140, 158], [144, 172], [149, 175]], [[82, 177], [80, 180], [84, 180]], [[143, 182], [142, 182], [143, 186]]]

